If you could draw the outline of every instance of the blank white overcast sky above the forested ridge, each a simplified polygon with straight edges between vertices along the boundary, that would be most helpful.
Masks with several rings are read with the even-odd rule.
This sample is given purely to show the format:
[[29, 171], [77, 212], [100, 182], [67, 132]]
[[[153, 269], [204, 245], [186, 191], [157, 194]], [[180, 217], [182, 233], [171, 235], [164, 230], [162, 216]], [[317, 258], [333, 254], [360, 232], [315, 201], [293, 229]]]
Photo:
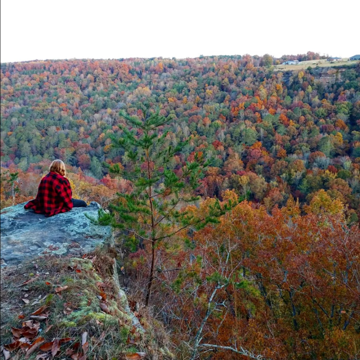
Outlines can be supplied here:
[[1, 62], [360, 53], [358, 0], [1, 0]]

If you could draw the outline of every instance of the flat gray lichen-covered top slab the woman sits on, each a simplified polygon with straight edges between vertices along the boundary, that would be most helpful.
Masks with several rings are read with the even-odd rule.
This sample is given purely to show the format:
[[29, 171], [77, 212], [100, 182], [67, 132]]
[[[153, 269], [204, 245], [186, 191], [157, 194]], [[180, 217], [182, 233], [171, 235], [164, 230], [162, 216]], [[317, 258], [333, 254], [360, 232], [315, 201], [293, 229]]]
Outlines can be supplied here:
[[42, 254], [83, 254], [113, 241], [110, 226], [94, 225], [85, 216], [97, 218], [97, 202], [50, 217], [25, 210], [24, 204], [1, 210], [1, 267]]

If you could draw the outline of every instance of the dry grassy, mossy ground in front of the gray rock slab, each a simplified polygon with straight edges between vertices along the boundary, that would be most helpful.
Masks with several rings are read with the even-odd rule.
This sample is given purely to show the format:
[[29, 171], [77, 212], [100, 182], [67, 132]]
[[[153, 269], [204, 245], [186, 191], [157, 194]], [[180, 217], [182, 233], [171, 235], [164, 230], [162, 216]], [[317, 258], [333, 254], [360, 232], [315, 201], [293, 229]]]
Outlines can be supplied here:
[[[152, 336], [155, 330], [151, 319], [146, 320], [148, 314], [137, 313], [141, 325], [148, 328], [143, 333], [132, 326], [131, 317], [121, 308], [112, 280], [113, 255], [110, 250], [110, 253], [96, 251], [88, 254], [88, 258], [41, 257], [36, 262], [3, 269], [1, 352], [4, 345], [13, 341], [11, 327], [21, 328], [23, 321], [31, 318], [31, 313], [45, 305], [46, 317], [34, 320], [39, 321], [36, 338], [42, 336], [48, 342], [71, 338], [61, 343], [56, 354], [61, 360], [76, 359], [80, 355], [121, 359], [126, 353], [137, 351], [146, 352], [149, 359], [169, 358], [170, 355], [159, 348], [162, 341]], [[20, 286], [27, 280], [31, 281]], [[59, 290], [60, 287], [63, 289]], [[88, 350], [84, 353], [80, 343], [85, 332]], [[160, 336], [159, 331], [156, 333]], [[11, 356], [22, 359], [25, 352], [26, 349], [17, 349]], [[28, 358], [35, 358], [40, 353], [44, 358], [51, 357], [49, 352], [36, 349]], [[74, 355], [76, 353], [78, 357]]]

